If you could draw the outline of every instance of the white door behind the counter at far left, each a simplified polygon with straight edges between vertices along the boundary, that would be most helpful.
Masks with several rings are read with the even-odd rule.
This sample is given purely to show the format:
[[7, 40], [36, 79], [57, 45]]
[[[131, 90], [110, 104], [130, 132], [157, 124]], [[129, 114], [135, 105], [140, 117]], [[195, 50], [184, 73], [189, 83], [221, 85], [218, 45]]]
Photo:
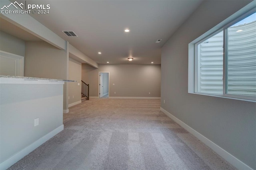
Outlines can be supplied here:
[[24, 76], [24, 57], [0, 51], [0, 75]]

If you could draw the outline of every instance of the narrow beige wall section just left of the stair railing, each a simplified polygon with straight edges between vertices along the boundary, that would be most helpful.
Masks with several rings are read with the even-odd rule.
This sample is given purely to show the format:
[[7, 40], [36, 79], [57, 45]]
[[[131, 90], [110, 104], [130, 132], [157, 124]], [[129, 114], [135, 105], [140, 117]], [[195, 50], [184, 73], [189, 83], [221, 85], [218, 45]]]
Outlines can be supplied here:
[[[76, 80], [68, 84], [68, 104], [81, 101], [81, 77], [82, 77], [82, 64], [73, 58], [69, 58], [69, 80]], [[80, 85], [78, 86], [78, 83]], [[74, 98], [73, 98], [74, 96]]]

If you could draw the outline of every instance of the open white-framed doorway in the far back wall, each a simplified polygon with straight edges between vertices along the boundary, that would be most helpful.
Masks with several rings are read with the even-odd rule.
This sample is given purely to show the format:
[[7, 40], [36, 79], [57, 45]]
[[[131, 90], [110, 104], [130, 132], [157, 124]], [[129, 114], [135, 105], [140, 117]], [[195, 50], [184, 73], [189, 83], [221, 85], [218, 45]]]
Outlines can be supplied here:
[[99, 72], [99, 98], [109, 97], [109, 72]]

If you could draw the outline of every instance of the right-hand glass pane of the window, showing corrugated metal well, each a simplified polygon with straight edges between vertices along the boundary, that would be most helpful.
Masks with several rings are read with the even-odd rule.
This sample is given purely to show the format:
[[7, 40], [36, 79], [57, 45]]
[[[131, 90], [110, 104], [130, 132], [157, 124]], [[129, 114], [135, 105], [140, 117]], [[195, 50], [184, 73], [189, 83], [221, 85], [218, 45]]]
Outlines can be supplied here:
[[226, 93], [256, 96], [256, 13], [226, 29]]

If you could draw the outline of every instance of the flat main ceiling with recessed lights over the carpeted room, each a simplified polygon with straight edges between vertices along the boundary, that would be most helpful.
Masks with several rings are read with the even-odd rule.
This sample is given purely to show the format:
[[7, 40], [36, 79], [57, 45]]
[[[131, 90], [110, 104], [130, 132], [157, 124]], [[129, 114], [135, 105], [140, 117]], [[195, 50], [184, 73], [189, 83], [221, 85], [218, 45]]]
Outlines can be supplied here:
[[[24, 2], [17, 0], [17, 2]], [[202, 0], [27, 0], [50, 4], [30, 14], [98, 64], [160, 64], [161, 47]], [[130, 32], [125, 33], [124, 29]], [[67, 37], [62, 30], [74, 31]], [[160, 43], [155, 43], [162, 39]], [[98, 54], [98, 52], [102, 54]], [[134, 60], [128, 62], [127, 58]]]

